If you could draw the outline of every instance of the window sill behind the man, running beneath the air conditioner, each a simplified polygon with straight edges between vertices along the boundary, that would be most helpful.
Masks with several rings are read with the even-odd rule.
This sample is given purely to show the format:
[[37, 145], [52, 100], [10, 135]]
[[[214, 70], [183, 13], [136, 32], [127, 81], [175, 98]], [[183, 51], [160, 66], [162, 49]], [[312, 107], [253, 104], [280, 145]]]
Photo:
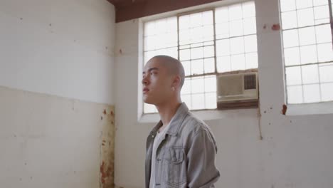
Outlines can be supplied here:
[[[192, 113], [201, 120], [222, 120], [224, 118], [257, 117], [258, 108], [237, 110], [192, 110]], [[158, 113], [144, 114], [139, 118], [139, 123], [152, 123], [160, 120]]]

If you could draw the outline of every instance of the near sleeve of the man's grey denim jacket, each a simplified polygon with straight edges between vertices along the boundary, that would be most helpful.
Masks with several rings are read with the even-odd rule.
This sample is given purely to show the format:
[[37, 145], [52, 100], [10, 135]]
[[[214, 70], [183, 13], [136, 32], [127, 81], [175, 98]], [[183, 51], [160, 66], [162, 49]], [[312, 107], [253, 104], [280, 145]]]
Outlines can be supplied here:
[[191, 140], [187, 153], [187, 187], [214, 187], [220, 177], [215, 165], [216, 143], [208, 130], [199, 130]]

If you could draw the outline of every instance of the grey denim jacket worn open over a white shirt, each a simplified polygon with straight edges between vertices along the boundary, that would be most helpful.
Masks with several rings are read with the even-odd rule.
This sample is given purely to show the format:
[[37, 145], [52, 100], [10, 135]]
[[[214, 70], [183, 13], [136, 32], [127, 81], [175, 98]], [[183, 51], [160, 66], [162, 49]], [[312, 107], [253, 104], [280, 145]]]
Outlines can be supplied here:
[[[152, 147], [162, 121], [147, 137], [146, 188], [149, 188], [152, 166]], [[159, 143], [155, 164], [155, 187], [214, 187], [220, 172], [215, 165], [216, 141], [210, 128], [189, 112], [181, 103], [166, 127]]]

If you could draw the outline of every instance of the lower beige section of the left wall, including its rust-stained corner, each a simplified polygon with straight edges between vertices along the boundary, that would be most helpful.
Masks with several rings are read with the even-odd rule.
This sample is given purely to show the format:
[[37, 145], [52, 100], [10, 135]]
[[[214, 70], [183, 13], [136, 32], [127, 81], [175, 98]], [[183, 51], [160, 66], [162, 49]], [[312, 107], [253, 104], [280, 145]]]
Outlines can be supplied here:
[[0, 187], [112, 184], [113, 112], [111, 105], [0, 87]]

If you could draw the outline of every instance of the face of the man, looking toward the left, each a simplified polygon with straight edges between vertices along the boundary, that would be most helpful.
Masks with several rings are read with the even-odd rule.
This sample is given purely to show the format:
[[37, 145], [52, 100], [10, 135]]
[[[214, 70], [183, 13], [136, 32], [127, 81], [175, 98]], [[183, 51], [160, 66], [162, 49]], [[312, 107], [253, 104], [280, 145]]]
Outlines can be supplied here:
[[158, 58], [152, 58], [144, 66], [142, 92], [144, 103], [158, 105], [171, 97], [171, 76]]

